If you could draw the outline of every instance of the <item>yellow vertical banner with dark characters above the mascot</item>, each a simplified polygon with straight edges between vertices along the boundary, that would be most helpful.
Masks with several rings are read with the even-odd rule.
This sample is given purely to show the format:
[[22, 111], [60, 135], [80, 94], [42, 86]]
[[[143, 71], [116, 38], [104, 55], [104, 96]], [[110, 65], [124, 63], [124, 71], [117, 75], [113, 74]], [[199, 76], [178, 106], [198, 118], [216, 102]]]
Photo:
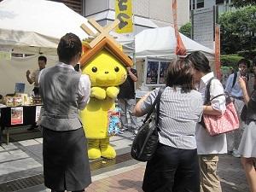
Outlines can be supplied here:
[[115, 32], [129, 33], [132, 32], [132, 0], [115, 0], [115, 18], [120, 23], [115, 27]]

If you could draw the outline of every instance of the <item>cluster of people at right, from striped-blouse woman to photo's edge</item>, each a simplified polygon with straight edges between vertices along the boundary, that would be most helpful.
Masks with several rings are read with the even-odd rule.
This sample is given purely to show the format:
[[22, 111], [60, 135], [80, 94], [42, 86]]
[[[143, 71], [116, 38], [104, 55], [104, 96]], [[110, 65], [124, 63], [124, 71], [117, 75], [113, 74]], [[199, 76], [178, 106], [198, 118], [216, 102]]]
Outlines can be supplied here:
[[[256, 158], [256, 93], [249, 93], [247, 60], [239, 61], [238, 67], [239, 72], [230, 75], [224, 90], [220, 81], [214, 79], [209, 61], [201, 52], [195, 51], [185, 59], [172, 61], [160, 98], [160, 143], [146, 166], [145, 192], [222, 191], [217, 174], [218, 156], [228, 152], [228, 142], [232, 143], [233, 155], [241, 155], [250, 191], [256, 191], [253, 166]], [[210, 105], [205, 102], [207, 84], [210, 84]], [[158, 91], [153, 90], [137, 102], [134, 109], [137, 116], [148, 113]], [[222, 115], [226, 108], [224, 92], [235, 102], [239, 115], [241, 108], [247, 108], [247, 112], [245, 119], [240, 119], [238, 130], [212, 137], [204, 127], [201, 115]], [[229, 139], [229, 135], [242, 137]]]

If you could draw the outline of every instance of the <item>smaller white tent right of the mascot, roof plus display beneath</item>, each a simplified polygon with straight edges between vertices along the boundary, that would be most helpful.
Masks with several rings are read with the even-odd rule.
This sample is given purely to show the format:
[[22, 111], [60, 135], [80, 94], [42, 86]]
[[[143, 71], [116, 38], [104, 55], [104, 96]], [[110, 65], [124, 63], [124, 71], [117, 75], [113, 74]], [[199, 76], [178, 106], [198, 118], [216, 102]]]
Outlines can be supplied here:
[[[180, 36], [183, 40], [185, 48], [187, 49], [187, 54], [195, 50], [200, 50], [207, 56], [212, 69], [214, 69], [214, 52], [212, 49], [196, 43], [181, 33]], [[146, 87], [144, 84], [150, 84], [154, 87], [160, 86], [159, 83], [147, 83], [148, 61], [154, 61], [158, 68], [160, 66], [160, 62], [170, 61], [171, 59], [177, 57], [175, 55], [176, 46], [177, 40], [175, 37], [174, 28], [172, 26], [146, 29], [136, 35], [135, 55], [137, 59], [137, 72], [140, 74], [137, 82], [137, 88], [140, 88], [141, 90], [145, 89]], [[160, 82], [160, 76], [158, 75], [157, 77], [157, 82]], [[137, 95], [145, 94], [145, 91], [141, 90], [137, 90]]]

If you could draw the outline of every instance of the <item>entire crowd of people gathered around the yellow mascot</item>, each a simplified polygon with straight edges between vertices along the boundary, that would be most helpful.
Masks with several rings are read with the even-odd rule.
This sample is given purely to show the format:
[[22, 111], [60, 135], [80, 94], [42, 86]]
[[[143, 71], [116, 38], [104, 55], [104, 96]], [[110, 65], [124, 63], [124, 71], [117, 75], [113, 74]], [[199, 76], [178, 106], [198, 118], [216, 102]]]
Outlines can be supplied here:
[[[40, 68], [34, 75], [38, 81], [33, 81], [44, 102], [40, 123], [44, 139], [44, 183], [52, 192], [79, 192], [91, 183], [87, 141], [78, 114], [89, 100], [90, 79], [73, 68], [82, 53], [82, 44], [76, 35], [67, 33], [63, 36], [57, 53], [59, 62], [54, 67]], [[45, 64], [46, 60], [44, 67]], [[160, 97], [160, 141], [146, 166], [145, 192], [220, 192], [218, 156], [228, 151], [241, 155], [247, 183], [251, 192], [256, 191], [253, 167], [256, 158], [256, 92], [250, 93], [248, 89], [247, 61], [239, 61], [238, 67], [239, 72], [230, 75], [224, 90], [220, 81], [213, 79], [209, 61], [200, 51], [171, 62], [166, 71], [166, 87]], [[124, 128], [129, 126], [128, 112], [131, 130], [137, 134], [136, 116], [148, 113], [160, 89], [150, 91], [136, 104], [135, 92], [131, 90], [137, 81], [137, 71], [127, 68], [127, 73], [128, 79], [121, 85], [119, 105], [124, 111]], [[29, 71], [26, 76], [31, 83]], [[209, 82], [210, 98], [213, 99], [207, 105], [205, 92]], [[240, 119], [238, 131], [212, 137], [201, 122], [202, 115], [224, 113], [224, 92], [234, 99], [237, 113], [241, 113], [241, 108], [246, 108], [243, 109], [246, 112]]]

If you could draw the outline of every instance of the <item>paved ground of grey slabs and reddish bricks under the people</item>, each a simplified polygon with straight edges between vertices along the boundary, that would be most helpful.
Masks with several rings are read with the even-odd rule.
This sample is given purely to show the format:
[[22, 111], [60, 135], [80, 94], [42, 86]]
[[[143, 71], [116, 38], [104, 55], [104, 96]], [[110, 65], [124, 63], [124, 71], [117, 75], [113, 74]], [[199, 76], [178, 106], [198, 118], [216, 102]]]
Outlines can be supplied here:
[[[26, 131], [23, 131], [23, 134], [26, 134]], [[131, 159], [129, 152], [132, 139], [130, 132], [112, 137], [112, 145], [118, 154], [117, 159], [90, 162], [93, 183], [86, 191], [143, 191], [141, 186], [145, 164]], [[42, 138], [2, 144], [0, 192], [49, 192], [50, 190], [45, 189], [42, 184], [42, 164]], [[218, 174], [224, 192], [249, 191], [239, 158], [220, 156]]]

